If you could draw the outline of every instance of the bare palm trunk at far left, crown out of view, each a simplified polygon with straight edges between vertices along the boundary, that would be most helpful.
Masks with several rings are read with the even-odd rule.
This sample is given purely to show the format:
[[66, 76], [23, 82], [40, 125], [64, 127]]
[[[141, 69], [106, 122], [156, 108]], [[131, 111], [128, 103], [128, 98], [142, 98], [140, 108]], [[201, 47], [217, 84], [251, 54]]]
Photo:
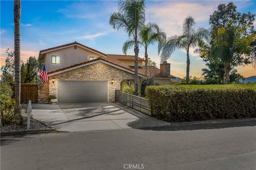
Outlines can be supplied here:
[[20, 0], [14, 0], [14, 63], [15, 93], [17, 105], [20, 105]]

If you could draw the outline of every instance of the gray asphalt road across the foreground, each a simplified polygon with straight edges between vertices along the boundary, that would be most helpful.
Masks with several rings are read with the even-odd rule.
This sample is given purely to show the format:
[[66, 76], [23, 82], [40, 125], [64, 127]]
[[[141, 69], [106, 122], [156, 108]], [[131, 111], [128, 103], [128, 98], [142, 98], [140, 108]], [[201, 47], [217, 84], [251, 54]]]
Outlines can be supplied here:
[[256, 125], [1, 137], [1, 170], [255, 170]]

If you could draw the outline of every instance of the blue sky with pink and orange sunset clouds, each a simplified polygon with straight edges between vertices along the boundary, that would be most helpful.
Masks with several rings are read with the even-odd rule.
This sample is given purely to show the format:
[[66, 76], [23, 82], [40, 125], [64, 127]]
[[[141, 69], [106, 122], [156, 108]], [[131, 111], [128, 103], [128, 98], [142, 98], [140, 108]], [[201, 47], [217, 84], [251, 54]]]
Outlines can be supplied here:
[[[231, 1], [146, 1], [146, 23], [156, 22], [167, 34], [167, 37], [182, 34], [182, 24], [187, 16], [195, 19], [196, 26], [209, 28], [209, 16], [217, 10], [220, 3]], [[233, 1], [237, 11], [256, 13], [256, 1]], [[83, 45], [106, 54], [123, 54], [122, 45], [128, 35], [118, 32], [109, 25], [113, 12], [118, 12], [118, 2], [73, 1], [73, 0], [35, 0], [21, 1], [21, 58], [24, 62], [30, 56], [38, 58], [39, 51], [59, 45], [79, 42]], [[0, 1], [0, 65], [4, 65], [6, 49], [14, 49], [14, 2]], [[254, 21], [256, 27], [256, 21]], [[201, 77], [206, 63], [190, 49], [190, 75]], [[134, 55], [133, 50], [128, 55]], [[140, 48], [139, 57], [144, 57]], [[157, 44], [148, 48], [148, 57], [160, 68], [160, 56]], [[168, 63], [171, 63], [171, 74], [183, 78], [186, 76], [186, 52], [176, 51]], [[244, 77], [256, 75], [252, 65], [237, 67]]]

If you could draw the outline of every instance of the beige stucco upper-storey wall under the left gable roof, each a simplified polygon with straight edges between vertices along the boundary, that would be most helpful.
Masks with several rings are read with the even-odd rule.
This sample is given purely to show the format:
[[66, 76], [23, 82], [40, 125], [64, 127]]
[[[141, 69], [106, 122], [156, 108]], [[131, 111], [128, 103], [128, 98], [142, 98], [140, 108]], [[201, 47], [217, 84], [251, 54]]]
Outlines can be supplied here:
[[[52, 55], [60, 56], [60, 64], [52, 64]], [[70, 65], [74, 65], [77, 63], [89, 61], [90, 57], [100, 57], [100, 56], [101, 55], [98, 55], [96, 53], [83, 49], [79, 46], [77, 46], [77, 49], [74, 49], [74, 46], [72, 46], [72, 47], [67, 47], [64, 49], [59, 49], [56, 51], [46, 53], [46, 57], [44, 58], [44, 60], [45, 60], [46, 70], [49, 72], [49, 71], [53, 71], [53, 70], [67, 67]]]

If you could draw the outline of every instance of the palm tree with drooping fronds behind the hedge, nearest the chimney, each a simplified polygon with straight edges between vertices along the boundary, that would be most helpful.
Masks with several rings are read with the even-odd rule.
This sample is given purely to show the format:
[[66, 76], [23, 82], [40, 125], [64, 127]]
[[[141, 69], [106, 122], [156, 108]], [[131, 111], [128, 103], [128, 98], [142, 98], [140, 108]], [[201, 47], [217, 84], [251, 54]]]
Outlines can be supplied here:
[[208, 40], [210, 38], [209, 31], [205, 28], [195, 28], [196, 23], [192, 16], [185, 18], [182, 27], [181, 36], [171, 36], [168, 38], [164, 48], [161, 53], [161, 62], [166, 61], [170, 58], [171, 54], [176, 49], [185, 49], [187, 52], [187, 68], [186, 68], [186, 84], [188, 85], [189, 81], [189, 49], [190, 47], [195, 48], [198, 46], [198, 43], [202, 40]]

